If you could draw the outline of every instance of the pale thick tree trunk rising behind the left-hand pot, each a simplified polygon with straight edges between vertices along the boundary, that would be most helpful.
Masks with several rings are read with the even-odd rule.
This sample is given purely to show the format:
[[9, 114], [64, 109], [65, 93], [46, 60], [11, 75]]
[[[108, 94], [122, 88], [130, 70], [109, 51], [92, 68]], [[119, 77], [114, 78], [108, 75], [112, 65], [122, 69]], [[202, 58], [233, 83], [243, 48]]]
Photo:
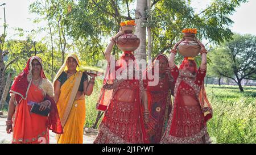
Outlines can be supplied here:
[[141, 40], [138, 49], [135, 51], [135, 57], [138, 61], [146, 60], [146, 27], [144, 22], [146, 21], [146, 7], [147, 0], [137, 0], [137, 6], [135, 10], [135, 35]]

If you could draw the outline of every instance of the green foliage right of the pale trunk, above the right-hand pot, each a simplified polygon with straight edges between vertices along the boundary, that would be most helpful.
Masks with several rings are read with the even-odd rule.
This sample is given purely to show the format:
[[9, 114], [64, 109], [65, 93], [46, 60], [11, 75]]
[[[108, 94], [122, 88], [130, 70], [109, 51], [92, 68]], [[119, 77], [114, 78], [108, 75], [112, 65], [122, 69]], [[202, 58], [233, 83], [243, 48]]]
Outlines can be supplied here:
[[215, 0], [197, 14], [189, 1], [159, 1], [152, 10], [153, 55], [167, 53], [181, 39], [183, 28], [197, 28], [197, 37], [210, 43], [231, 39], [229, 15], [243, 2], [247, 1]]

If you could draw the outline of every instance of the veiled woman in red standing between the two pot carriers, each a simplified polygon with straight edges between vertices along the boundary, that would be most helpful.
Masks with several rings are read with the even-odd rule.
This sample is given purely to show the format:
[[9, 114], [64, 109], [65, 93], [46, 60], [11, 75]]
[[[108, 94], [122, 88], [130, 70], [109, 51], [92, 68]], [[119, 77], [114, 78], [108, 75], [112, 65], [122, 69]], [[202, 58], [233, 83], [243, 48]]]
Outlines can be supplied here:
[[[158, 60], [158, 63], [156, 63], [156, 60]], [[159, 68], [158, 75], [155, 75], [155, 68]], [[166, 72], [167, 68], [169, 68], [168, 57], [166, 55], [159, 55], [155, 58], [152, 67], [149, 66], [146, 72], [147, 77], [151, 74], [152, 77], [159, 76], [159, 81], [155, 83], [156, 85], [153, 83], [156, 82], [154, 78], [147, 78], [147, 98], [150, 120], [146, 125], [146, 132], [152, 144], [160, 142], [171, 113], [171, 95], [174, 91], [174, 78], [171, 76], [170, 72]]]

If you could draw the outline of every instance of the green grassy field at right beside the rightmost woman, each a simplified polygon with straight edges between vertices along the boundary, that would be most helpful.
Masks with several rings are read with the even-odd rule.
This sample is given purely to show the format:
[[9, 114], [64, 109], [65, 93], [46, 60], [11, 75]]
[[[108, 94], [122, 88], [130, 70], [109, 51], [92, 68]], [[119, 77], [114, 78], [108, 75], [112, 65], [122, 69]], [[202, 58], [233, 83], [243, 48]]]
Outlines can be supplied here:
[[256, 87], [207, 86], [213, 107], [208, 131], [214, 143], [256, 143]]

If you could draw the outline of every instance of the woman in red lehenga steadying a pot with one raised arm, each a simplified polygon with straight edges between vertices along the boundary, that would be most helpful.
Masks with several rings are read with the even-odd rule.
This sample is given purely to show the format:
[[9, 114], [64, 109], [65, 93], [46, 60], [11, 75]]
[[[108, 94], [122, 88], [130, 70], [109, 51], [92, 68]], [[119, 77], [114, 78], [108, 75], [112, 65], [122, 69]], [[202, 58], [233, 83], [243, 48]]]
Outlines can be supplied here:
[[[123, 32], [118, 32], [114, 38], [122, 34]], [[114, 66], [114, 72], [109, 69], [115, 65], [112, 64], [115, 61], [110, 64], [110, 52], [115, 44], [114, 40], [112, 38], [105, 51], [109, 66], [97, 103], [97, 109], [105, 111], [105, 115], [94, 143], [148, 143], [144, 129], [144, 123], [148, 122], [149, 115], [146, 89], [144, 89], [143, 81], [135, 79], [134, 74], [133, 79], [118, 78], [120, 69], [134, 69], [135, 64], [126, 65], [129, 60], [134, 62], [133, 53], [123, 53], [119, 59], [119, 66]], [[141, 115], [141, 100], [145, 109], [144, 116]]]

